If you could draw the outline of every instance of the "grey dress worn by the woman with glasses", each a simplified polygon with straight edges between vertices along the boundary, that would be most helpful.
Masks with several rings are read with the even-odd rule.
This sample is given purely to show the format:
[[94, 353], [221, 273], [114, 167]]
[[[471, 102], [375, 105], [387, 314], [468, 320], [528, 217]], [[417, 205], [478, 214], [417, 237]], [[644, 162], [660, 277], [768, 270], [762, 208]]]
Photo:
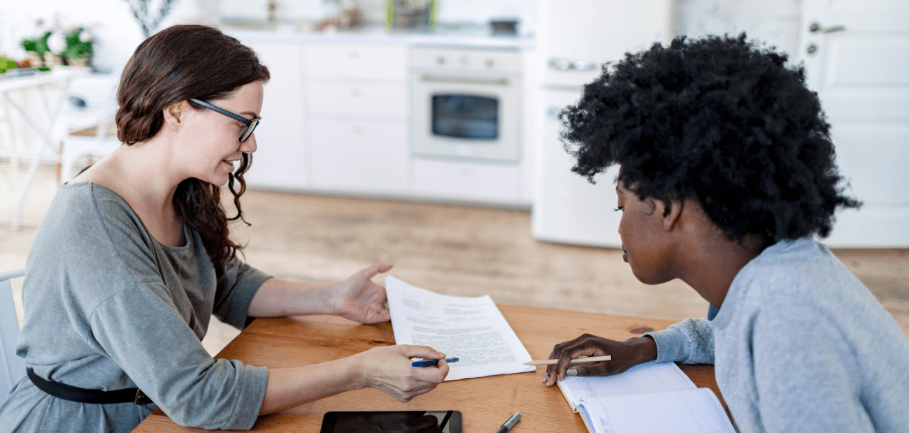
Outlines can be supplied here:
[[25, 324], [16, 353], [45, 379], [85, 389], [140, 388], [156, 403], [56, 399], [25, 377], [0, 405], [0, 432], [126, 432], [157, 408], [177, 424], [248, 429], [267, 369], [212, 359], [208, 322], [242, 328], [268, 278], [239, 260], [215, 269], [196, 231], [155, 241], [115, 192], [63, 186], [25, 265]]

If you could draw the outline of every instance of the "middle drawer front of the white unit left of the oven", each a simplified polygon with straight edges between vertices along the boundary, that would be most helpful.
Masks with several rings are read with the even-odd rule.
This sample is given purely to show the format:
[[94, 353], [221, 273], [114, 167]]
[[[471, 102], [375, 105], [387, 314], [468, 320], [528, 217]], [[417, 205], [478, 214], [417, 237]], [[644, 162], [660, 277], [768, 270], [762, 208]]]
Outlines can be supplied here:
[[310, 113], [407, 117], [405, 84], [310, 82], [306, 89]]

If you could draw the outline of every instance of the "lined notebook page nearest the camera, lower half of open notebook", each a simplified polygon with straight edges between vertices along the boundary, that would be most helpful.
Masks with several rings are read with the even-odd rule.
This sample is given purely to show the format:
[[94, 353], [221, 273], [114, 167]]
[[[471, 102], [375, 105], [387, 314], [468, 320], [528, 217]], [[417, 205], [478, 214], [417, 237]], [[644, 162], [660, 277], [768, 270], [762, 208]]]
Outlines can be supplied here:
[[578, 412], [596, 433], [734, 433], [710, 389], [581, 399]]

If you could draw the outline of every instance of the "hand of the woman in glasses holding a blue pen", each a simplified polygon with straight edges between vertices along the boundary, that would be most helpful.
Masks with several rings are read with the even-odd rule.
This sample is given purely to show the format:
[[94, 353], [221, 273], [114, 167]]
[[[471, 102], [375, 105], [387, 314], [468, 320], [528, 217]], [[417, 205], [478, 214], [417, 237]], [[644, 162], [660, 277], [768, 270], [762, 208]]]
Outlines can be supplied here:
[[[384, 346], [351, 358], [360, 358], [357, 361], [363, 366], [361, 388], [379, 389], [405, 403], [435, 389], [448, 375], [445, 353], [428, 346]], [[413, 367], [411, 358], [439, 359], [439, 363], [430, 367]]]

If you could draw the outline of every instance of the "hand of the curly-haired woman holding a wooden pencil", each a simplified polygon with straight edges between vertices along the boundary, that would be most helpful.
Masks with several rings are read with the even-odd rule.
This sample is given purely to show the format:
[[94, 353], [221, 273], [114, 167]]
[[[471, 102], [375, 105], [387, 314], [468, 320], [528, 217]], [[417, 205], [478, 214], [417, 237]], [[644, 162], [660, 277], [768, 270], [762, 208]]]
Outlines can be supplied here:
[[[568, 362], [580, 357], [599, 357], [610, 355], [612, 360], [591, 364], [572, 364]], [[574, 340], [556, 344], [549, 359], [558, 359], [557, 364], [546, 368], [544, 382], [552, 386], [556, 380], [569, 376], [611, 376], [630, 369], [637, 364], [656, 359], [656, 342], [650, 337], [635, 337], [624, 341], [615, 341], [584, 334]]]

